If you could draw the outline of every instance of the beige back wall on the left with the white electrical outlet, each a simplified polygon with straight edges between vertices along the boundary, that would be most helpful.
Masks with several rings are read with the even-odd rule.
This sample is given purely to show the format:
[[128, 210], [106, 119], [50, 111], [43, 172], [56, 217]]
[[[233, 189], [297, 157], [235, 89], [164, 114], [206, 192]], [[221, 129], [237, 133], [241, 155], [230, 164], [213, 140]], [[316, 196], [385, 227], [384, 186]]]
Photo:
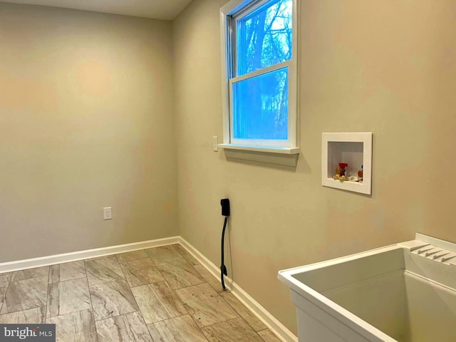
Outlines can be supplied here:
[[0, 4], [0, 262], [178, 234], [171, 35]]

